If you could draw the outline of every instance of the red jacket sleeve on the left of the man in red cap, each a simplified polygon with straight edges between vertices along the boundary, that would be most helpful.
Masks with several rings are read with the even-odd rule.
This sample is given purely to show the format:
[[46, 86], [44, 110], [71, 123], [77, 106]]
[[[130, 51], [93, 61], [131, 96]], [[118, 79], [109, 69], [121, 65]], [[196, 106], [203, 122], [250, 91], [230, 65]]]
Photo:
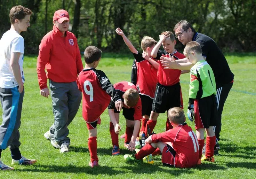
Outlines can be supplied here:
[[52, 39], [48, 36], [44, 36], [40, 45], [39, 45], [39, 54], [37, 57], [37, 78], [39, 83], [39, 88], [47, 88], [47, 76], [44, 71], [45, 65], [49, 62], [50, 52], [52, 48]]

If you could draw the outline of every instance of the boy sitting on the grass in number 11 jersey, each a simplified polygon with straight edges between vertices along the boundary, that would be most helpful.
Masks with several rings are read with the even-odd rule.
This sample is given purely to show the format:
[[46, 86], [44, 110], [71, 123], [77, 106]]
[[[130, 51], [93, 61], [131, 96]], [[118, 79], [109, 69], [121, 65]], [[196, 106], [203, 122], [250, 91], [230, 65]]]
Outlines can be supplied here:
[[201, 163], [196, 134], [187, 125], [184, 111], [179, 107], [168, 111], [168, 119], [173, 128], [149, 136], [146, 145], [136, 154], [124, 155], [127, 162], [143, 162], [143, 158], [157, 148], [162, 153], [162, 163], [170, 167], [189, 168]]

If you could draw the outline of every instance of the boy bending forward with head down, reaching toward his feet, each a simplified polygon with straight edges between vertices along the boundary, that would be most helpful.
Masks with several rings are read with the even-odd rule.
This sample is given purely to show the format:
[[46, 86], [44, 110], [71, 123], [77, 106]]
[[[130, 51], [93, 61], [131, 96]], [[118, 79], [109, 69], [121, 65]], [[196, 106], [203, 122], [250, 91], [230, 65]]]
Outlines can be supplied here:
[[[135, 141], [139, 134], [140, 120], [142, 118], [140, 95], [135, 85], [131, 82], [117, 82], [114, 87], [123, 101], [123, 115], [126, 121], [124, 147], [132, 151], [135, 149]], [[118, 125], [119, 113], [115, 108], [113, 99], [111, 99], [108, 105], [108, 114], [111, 121], [109, 131], [113, 145], [112, 155], [120, 154], [118, 144], [119, 131], [117, 131], [118, 128], [121, 129]]]

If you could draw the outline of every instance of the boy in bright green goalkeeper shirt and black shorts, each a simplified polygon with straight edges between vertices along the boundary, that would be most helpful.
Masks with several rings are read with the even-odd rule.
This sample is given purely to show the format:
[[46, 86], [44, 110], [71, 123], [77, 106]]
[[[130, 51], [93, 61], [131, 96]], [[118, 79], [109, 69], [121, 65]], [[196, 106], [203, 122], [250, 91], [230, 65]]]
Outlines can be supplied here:
[[202, 55], [200, 44], [192, 41], [186, 44], [184, 55], [194, 64], [190, 69], [188, 119], [194, 121], [199, 143], [199, 158], [202, 158], [204, 130], [206, 145], [203, 160], [214, 162], [215, 133], [213, 126], [217, 122], [216, 84], [211, 66]]

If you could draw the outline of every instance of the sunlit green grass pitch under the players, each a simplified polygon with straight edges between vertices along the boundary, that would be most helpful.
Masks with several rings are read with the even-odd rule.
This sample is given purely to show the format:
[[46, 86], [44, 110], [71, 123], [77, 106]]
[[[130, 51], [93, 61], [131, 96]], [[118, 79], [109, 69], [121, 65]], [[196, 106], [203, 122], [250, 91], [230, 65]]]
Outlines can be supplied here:
[[[69, 126], [70, 151], [60, 154], [43, 134], [53, 123], [51, 98], [40, 96], [36, 74], [36, 57], [24, 58], [25, 96], [23, 101], [20, 151], [22, 155], [38, 162], [33, 166], [14, 166], [14, 171], [0, 171], [0, 178], [255, 178], [256, 176], [256, 54], [228, 54], [229, 66], [235, 74], [233, 88], [222, 113], [221, 150], [215, 163], [203, 162], [190, 169], [164, 167], [161, 157], [154, 158], [154, 164], [127, 164], [123, 155], [130, 154], [119, 140], [119, 156], [111, 156], [111, 138], [107, 111], [101, 115], [98, 126], [99, 167], [90, 168], [90, 154], [87, 146], [88, 130], [82, 118], [82, 105]], [[114, 84], [130, 81], [132, 55], [104, 54], [98, 69], [103, 70]], [[183, 102], [188, 103], [189, 74], [180, 77]], [[0, 109], [2, 113], [2, 108]], [[160, 114], [155, 132], [165, 130], [166, 114]], [[2, 117], [0, 117], [2, 122]], [[193, 122], [187, 120], [194, 129]], [[120, 115], [122, 132], [125, 120]], [[9, 149], [2, 152], [1, 160], [11, 165]]]

